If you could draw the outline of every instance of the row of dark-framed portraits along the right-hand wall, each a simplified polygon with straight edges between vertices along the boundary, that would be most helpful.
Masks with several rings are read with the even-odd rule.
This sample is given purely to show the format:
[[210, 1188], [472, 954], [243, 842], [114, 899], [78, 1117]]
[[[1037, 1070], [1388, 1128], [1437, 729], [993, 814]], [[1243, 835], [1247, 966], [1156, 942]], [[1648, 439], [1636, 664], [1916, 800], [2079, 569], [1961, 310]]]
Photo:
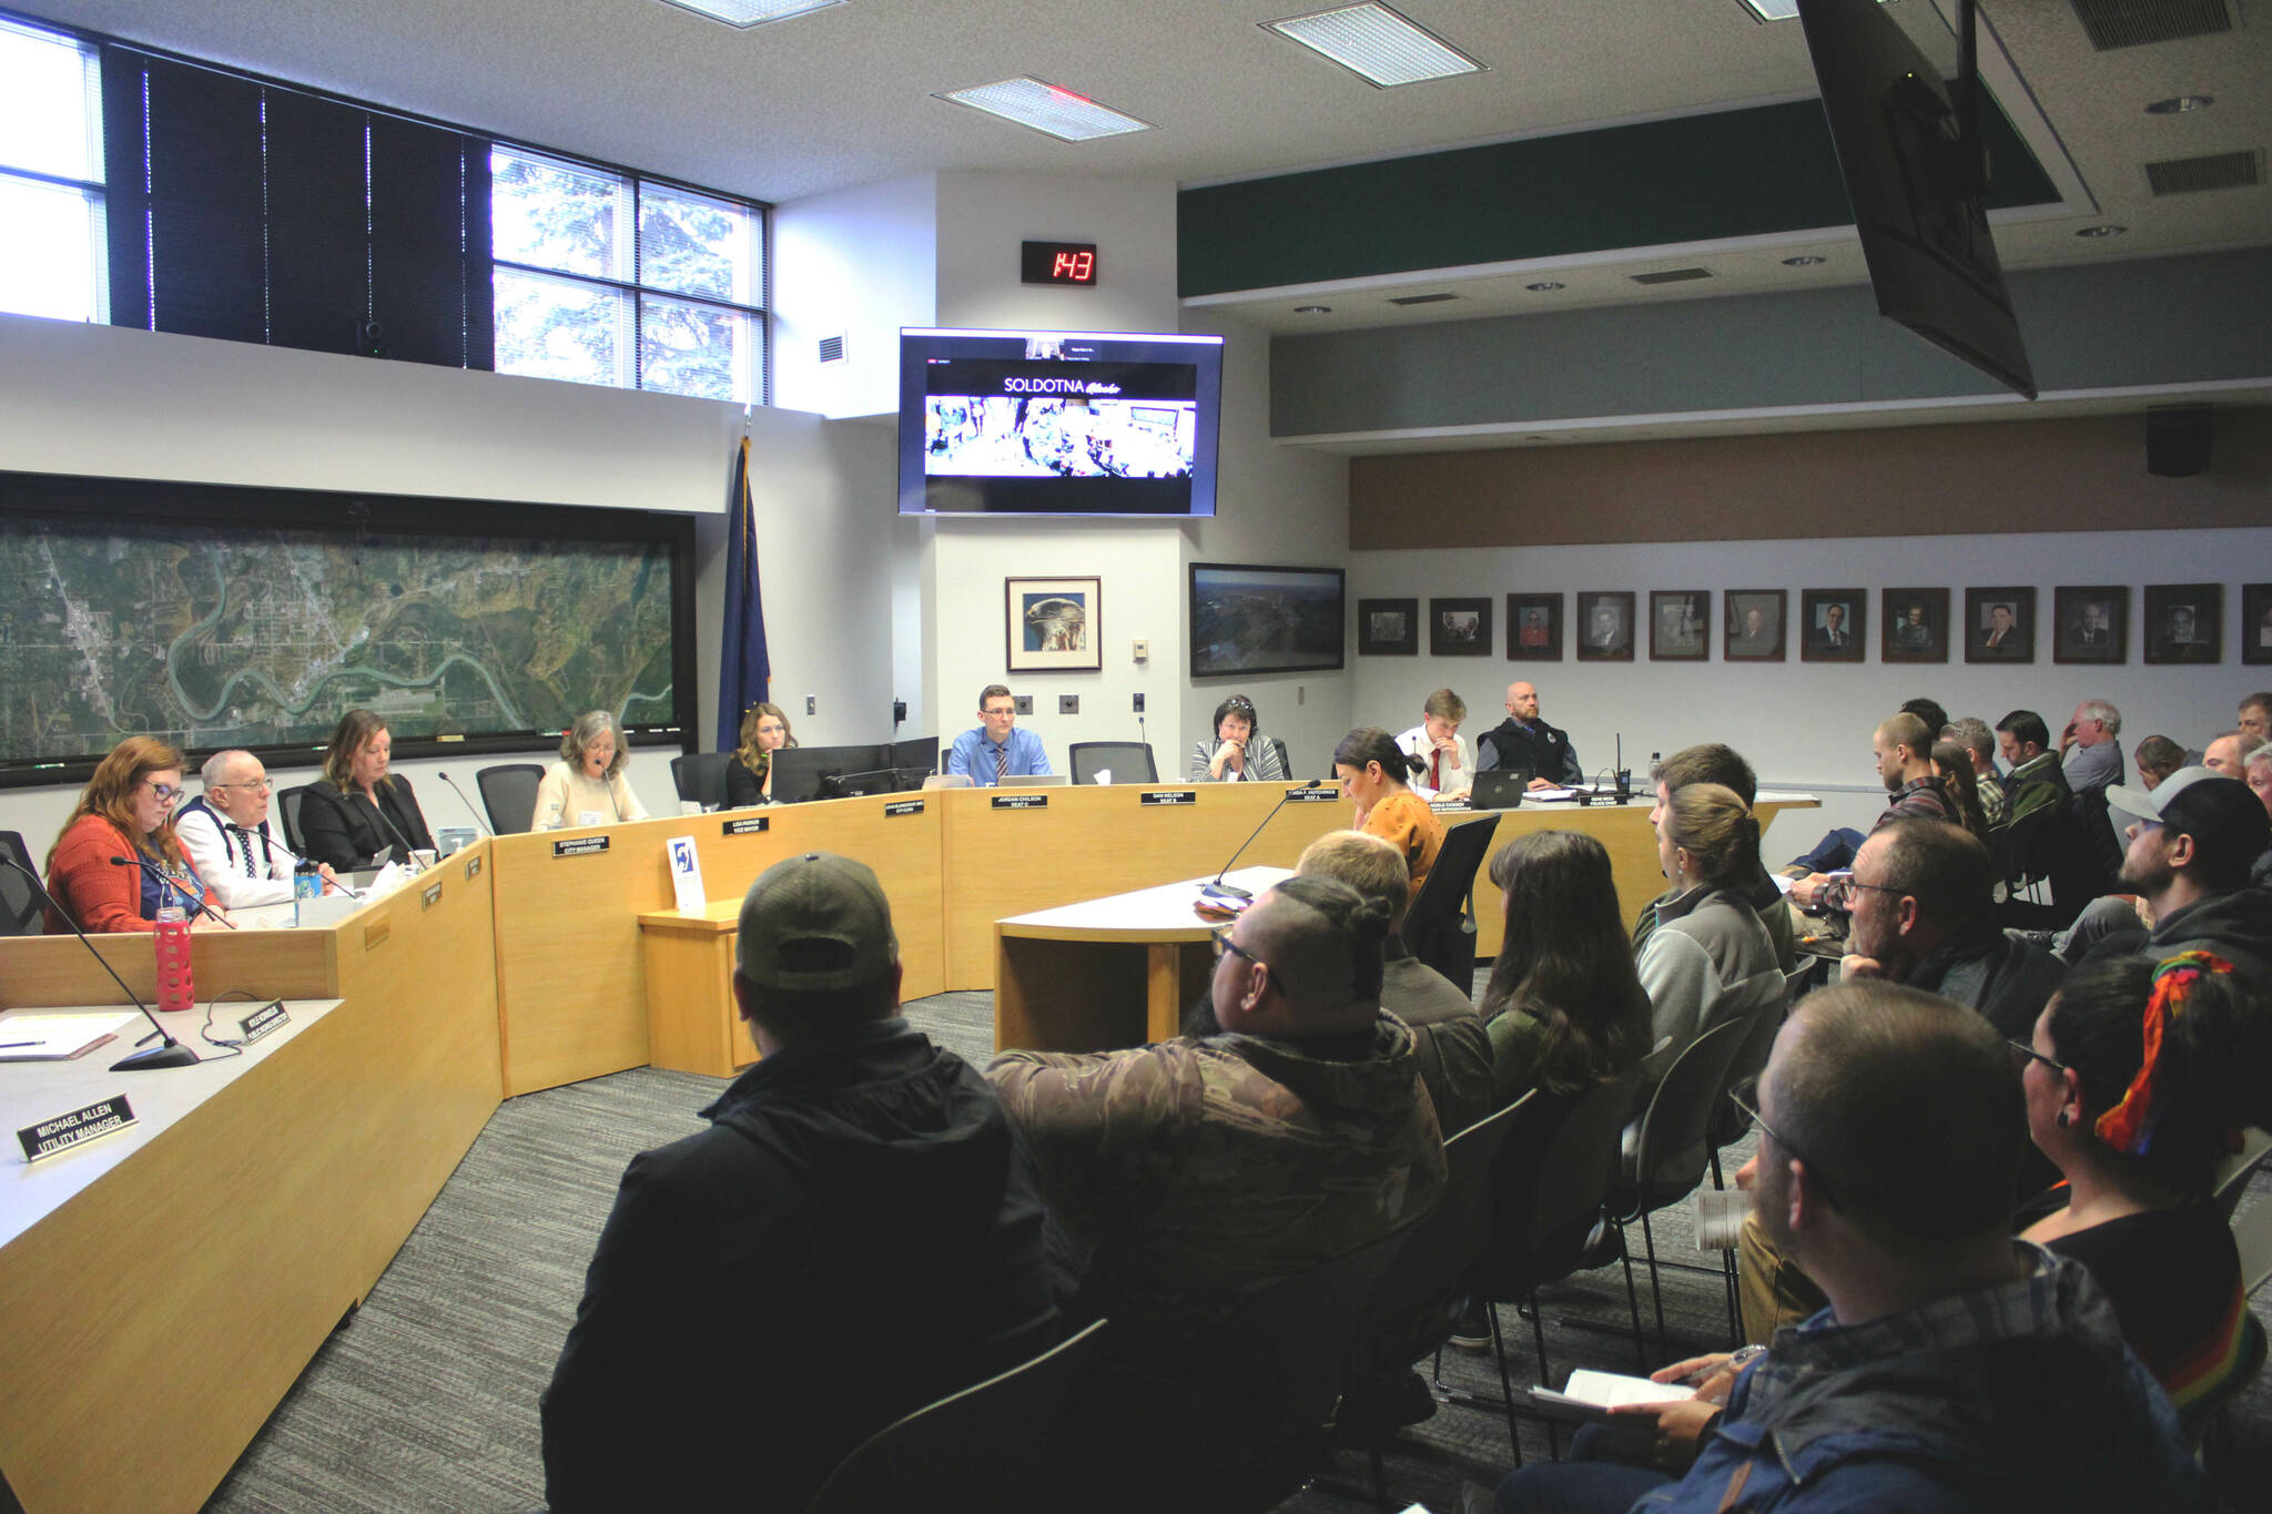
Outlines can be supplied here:
[[[2129, 663], [2131, 588], [2083, 583], [2052, 590], [2049, 622], [2036, 617], [2031, 586], [1968, 588], [1963, 617], [1949, 620], [1952, 590], [1888, 588], [1881, 595], [1877, 658], [1881, 663], [1947, 663], [1963, 649], [1968, 663], [2033, 663], [2047, 649], [2054, 663]], [[1870, 647], [1868, 588], [1799, 590], [1797, 624], [1790, 590], [1720, 590], [1720, 658], [1724, 663], [1781, 663], [1797, 645], [1802, 663], [1861, 663]], [[1563, 624], [1568, 595], [1506, 595], [1506, 661], [1561, 663], [1570, 640]], [[1574, 645], [1579, 663], [1631, 663], [1643, 633], [1652, 663], [1706, 663], [1713, 645], [1713, 590], [1649, 590], [1647, 620], [1636, 620], [1638, 595], [1595, 590], [1577, 595]], [[2224, 586], [2149, 583], [2142, 590], [2142, 658], [2147, 663], [2224, 661]], [[1495, 647], [1490, 597], [1429, 599], [1429, 656], [1490, 656]], [[1418, 656], [1418, 599], [1359, 599], [1359, 656]], [[2240, 586], [2240, 661], [2272, 663], [2272, 583]]]

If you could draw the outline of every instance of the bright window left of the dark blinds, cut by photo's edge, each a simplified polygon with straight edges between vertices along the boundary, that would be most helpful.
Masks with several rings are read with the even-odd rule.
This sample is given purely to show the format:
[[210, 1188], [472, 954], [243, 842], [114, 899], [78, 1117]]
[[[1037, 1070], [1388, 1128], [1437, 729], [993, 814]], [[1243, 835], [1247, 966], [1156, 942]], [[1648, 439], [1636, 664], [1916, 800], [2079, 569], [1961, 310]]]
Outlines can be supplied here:
[[109, 320], [95, 48], [0, 20], [0, 311]]

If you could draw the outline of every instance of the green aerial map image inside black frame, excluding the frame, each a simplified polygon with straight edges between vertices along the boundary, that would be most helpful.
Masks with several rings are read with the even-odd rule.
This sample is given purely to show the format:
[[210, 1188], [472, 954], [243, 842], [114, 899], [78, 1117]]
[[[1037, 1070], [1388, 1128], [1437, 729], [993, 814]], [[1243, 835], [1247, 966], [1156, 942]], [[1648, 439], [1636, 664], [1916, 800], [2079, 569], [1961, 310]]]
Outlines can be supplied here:
[[666, 542], [0, 518], [0, 763], [675, 724]]

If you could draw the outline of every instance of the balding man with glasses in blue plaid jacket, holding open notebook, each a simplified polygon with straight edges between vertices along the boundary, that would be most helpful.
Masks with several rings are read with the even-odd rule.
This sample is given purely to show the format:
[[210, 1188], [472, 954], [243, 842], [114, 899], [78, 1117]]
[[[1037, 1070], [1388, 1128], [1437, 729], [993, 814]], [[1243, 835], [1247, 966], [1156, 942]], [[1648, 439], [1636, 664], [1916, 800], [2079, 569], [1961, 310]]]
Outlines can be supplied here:
[[1829, 1307], [1654, 1373], [1702, 1378], [1624, 1414], [1659, 1469], [1527, 1466], [1502, 1514], [2217, 1507], [2088, 1269], [2011, 1237], [2022, 1094], [1981, 1017], [1888, 983], [1809, 994], [1756, 1105], [1754, 1212]]

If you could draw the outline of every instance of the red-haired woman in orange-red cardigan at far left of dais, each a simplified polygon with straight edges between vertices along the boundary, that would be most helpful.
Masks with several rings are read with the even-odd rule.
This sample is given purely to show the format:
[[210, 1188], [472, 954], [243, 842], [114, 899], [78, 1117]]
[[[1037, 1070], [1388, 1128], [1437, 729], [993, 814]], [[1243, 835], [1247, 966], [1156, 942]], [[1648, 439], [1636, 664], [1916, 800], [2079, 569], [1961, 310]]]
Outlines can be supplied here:
[[[198, 901], [218, 903], [173, 833], [182, 799], [182, 754], [154, 735], [130, 735], [95, 763], [80, 804], [48, 849], [48, 935], [64, 935], [66, 910], [89, 935], [150, 931], [166, 906], [186, 910], [204, 928]], [[141, 858], [148, 867], [114, 867], [111, 858]]]

